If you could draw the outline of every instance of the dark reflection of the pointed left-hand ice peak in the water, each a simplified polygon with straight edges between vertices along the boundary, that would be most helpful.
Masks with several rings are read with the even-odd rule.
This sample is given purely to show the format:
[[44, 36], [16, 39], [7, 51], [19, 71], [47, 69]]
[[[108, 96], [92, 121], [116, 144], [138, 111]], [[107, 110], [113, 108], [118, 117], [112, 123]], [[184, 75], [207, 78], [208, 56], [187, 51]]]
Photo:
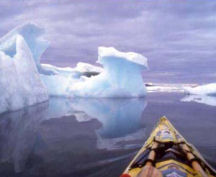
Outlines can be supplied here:
[[37, 141], [36, 131], [46, 116], [48, 103], [1, 115], [1, 163], [13, 162], [15, 172], [24, 168], [26, 159]]

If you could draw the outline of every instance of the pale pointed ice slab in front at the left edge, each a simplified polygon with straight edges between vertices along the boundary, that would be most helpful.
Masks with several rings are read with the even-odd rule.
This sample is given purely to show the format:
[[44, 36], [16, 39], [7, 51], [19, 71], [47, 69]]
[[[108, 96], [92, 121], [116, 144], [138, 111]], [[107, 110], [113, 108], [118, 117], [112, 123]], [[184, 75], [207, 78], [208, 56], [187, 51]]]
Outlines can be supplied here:
[[10, 44], [15, 49], [14, 53], [9, 48], [0, 49], [0, 113], [46, 101], [47, 90], [24, 38], [17, 34], [12, 41], [3, 39], [1, 46]]

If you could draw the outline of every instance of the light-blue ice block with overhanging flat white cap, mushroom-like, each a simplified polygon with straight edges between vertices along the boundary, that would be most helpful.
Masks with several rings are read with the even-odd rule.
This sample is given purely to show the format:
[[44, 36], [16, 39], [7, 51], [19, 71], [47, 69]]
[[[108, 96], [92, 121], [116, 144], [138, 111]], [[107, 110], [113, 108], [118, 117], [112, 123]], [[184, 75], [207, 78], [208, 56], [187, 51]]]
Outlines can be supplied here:
[[98, 63], [104, 70], [97, 76], [71, 85], [71, 95], [78, 97], [142, 97], [146, 94], [142, 71], [147, 59], [133, 52], [119, 52], [112, 47], [98, 48]]

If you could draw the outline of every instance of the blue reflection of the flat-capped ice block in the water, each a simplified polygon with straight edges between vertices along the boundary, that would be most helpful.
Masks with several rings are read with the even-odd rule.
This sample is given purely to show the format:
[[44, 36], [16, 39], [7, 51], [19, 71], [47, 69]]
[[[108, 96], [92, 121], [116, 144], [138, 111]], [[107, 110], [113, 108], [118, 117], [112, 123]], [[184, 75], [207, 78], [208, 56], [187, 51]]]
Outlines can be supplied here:
[[143, 138], [145, 128], [141, 118], [146, 105], [145, 98], [76, 99], [72, 102], [74, 110], [85, 112], [102, 123], [97, 130], [100, 149], [126, 148], [120, 142]]

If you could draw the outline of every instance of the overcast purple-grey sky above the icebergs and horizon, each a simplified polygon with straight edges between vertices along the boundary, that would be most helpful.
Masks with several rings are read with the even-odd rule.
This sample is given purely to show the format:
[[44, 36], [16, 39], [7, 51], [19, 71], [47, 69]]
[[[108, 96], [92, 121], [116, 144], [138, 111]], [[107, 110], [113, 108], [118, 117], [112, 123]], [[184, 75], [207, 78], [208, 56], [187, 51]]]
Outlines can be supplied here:
[[27, 21], [46, 29], [45, 63], [95, 63], [114, 46], [148, 58], [146, 81], [216, 81], [213, 0], [0, 0], [0, 36]]

